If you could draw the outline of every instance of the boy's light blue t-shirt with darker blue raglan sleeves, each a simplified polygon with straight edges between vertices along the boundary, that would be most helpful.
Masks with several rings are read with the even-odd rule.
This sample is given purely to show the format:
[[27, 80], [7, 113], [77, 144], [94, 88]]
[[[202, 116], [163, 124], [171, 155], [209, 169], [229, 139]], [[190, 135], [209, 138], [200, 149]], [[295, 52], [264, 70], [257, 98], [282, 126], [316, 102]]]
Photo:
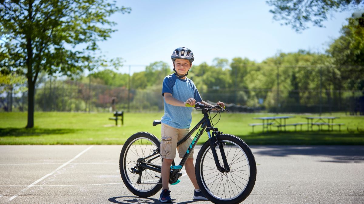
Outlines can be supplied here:
[[[175, 74], [170, 74], [164, 78], [162, 87], [163, 99], [164, 93], [171, 93], [173, 98], [183, 102], [189, 98], [194, 98], [196, 102], [202, 101], [193, 81], [187, 77], [186, 79], [180, 79]], [[164, 99], [162, 123], [174, 128], [189, 128], [192, 122], [191, 113], [191, 107], [173, 106], [166, 103], [166, 99]]]

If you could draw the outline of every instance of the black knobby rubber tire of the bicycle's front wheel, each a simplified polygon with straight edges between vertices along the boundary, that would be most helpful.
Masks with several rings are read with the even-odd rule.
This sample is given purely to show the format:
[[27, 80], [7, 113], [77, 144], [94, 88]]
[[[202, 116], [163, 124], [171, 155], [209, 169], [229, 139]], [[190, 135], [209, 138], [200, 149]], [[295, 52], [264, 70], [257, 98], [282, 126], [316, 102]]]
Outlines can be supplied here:
[[[230, 141], [238, 144], [242, 148], [242, 150], [245, 152], [245, 155], [247, 156], [247, 158], [249, 160], [249, 167], [250, 167], [250, 177], [249, 177], [248, 184], [246, 185], [246, 188], [241, 193], [241, 195], [239, 195], [238, 197], [231, 199], [231, 200], [219, 199], [218, 197], [215, 197], [208, 192], [208, 189], [206, 189], [204, 187], [204, 184], [203, 184], [204, 181], [202, 181], [201, 169], [200, 169], [200, 164], [202, 162], [203, 153], [206, 151], [207, 148], [210, 148], [210, 143], [209, 143], [209, 141], [207, 141], [205, 144], [203, 144], [203, 146], [199, 150], [197, 159], [196, 159], [195, 173], [196, 173], [196, 179], [197, 179], [198, 186], [201, 189], [203, 195], [205, 195], [213, 203], [218, 203], [218, 204], [223, 203], [223, 202], [229, 203], [229, 204], [241, 203], [252, 192], [256, 178], [257, 178], [257, 166], [256, 166], [256, 161], [255, 161], [253, 152], [250, 150], [249, 146], [242, 139], [238, 138], [237, 136], [230, 135], [230, 134], [221, 134], [221, 135], [217, 135], [216, 137], [217, 137], [218, 141], [230, 140]], [[217, 151], [219, 151], [219, 150], [217, 150]]]

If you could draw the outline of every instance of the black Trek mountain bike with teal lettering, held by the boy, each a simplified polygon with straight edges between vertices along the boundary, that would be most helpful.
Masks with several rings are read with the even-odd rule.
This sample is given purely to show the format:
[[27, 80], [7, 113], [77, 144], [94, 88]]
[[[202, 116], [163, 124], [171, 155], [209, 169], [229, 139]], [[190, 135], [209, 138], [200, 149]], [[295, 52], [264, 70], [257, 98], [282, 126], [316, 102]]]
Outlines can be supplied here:
[[[203, 118], [177, 143], [177, 146], [182, 144], [197, 131], [181, 162], [178, 165], [172, 162], [169, 183], [179, 183], [183, 165], [198, 139], [206, 131], [209, 139], [199, 150], [195, 164], [198, 186], [213, 203], [240, 203], [252, 192], [256, 181], [257, 166], [254, 155], [242, 139], [222, 134], [214, 127], [221, 118], [220, 111], [229, 110], [201, 103], [195, 103], [194, 107], [202, 111]], [[211, 118], [210, 114], [213, 109], [218, 110], [216, 115], [219, 113], [220, 117], [215, 124], [212, 119], [216, 115]], [[153, 126], [158, 124], [161, 121], [153, 121]], [[129, 191], [139, 197], [153, 196], [162, 188], [159, 147], [160, 141], [153, 134], [137, 132], [126, 140], [120, 152], [119, 168], [122, 180]]]

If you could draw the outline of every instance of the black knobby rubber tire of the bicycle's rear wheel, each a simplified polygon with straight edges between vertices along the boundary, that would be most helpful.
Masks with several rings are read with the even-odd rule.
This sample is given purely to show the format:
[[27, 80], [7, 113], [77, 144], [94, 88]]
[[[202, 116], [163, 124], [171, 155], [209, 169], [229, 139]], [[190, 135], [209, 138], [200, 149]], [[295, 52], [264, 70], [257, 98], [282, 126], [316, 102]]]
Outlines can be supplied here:
[[[139, 197], [150, 197], [155, 195], [155, 193], [159, 192], [162, 189], [162, 184], [155, 185], [154, 188], [150, 189], [149, 191], [138, 191], [137, 189], [133, 188], [130, 183], [128, 182], [128, 178], [125, 176], [124, 171], [128, 171], [124, 169], [124, 157], [125, 152], [127, 151], [127, 147], [130, 145], [132, 141], [134, 141], [137, 138], [147, 138], [151, 140], [157, 147], [160, 147], [161, 142], [159, 139], [154, 136], [153, 134], [150, 134], [149, 132], [137, 132], [130, 136], [126, 140], [126, 142], [123, 145], [123, 148], [120, 152], [120, 158], [119, 158], [119, 169], [120, 169], [120, 176], [123, 179], [123, 182], [125, 186], [128, 188], [130, 192], [132, 192], [134, 195], [137, 195]], [[158, 183], [162, 183], [162, 177], [159, 179]]]

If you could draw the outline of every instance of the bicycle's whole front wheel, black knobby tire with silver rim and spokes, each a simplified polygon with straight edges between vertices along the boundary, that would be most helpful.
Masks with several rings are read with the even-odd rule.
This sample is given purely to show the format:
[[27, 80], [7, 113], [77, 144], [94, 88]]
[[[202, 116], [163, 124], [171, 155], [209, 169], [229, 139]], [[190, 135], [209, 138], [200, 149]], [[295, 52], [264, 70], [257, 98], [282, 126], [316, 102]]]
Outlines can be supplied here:
[[[230, 171], [220, 172], [215, 164], [210, 143], [200, 149], [196, 159], [196, 179], [202, 193], [213, 203], [240, 203], [252, 192], [257, 177], [254, 155], [248, 145], [234, 135], [217, 135], [223, 146]], [[219, 163], [224, 167], [221, 151], [215, 147]]]

